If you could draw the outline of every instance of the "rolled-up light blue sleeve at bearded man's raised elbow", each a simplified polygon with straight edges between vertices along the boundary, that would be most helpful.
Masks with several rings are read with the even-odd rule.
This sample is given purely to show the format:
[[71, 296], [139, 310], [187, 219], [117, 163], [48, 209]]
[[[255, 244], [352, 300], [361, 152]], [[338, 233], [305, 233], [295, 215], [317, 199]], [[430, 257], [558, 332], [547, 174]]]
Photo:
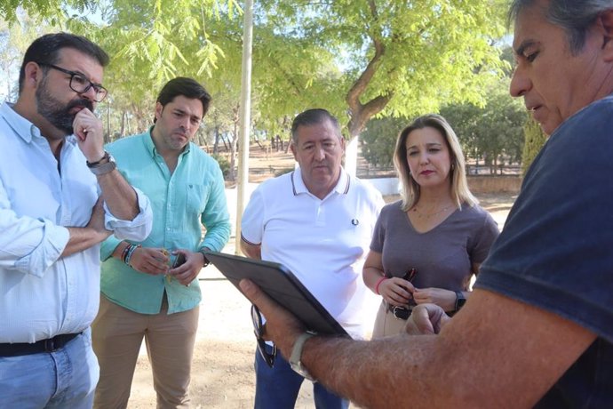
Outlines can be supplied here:
[[151, 210], [149, 198], [138, 188], [134, 188], [134, 190], [136, 191], [137, 201], [139, 203], [139, 214], [131, 221], [123, 221], [115, 218], [108, 210], [107, 204], [104, 204], [106, 213], [105, 228], [107, 230], [112, 230], [115, 237], [119, 240], [129, 239], [143, 241], [149, 236], [153, 227], [153, 211]]

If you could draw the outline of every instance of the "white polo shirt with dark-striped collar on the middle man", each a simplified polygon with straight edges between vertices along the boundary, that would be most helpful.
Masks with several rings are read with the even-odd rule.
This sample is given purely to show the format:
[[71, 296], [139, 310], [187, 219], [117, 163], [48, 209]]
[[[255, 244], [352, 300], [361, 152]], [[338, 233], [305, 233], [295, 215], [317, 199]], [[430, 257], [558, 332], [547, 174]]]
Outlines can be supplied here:
[[337, 186], [319, 199], [300, 169], [263, 182], [243, 213], [242, 238], [261, 245], [262, 260], [282, 263], [347, 333], [360, 339], [369, 324], [362, 265], [383, 198], [369, 183], [341, 170]]

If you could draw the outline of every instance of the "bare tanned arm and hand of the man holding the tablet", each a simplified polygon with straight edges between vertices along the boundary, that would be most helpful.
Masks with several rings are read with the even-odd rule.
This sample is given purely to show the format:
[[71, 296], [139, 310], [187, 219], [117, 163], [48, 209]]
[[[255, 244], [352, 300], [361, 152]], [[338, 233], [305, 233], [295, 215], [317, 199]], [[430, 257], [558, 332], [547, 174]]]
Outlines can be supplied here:
[[[288, 357], [304, 326], [251, 281], [240, 286], [267, 317], [268, 338]], [[475, 291], [439, 335], [314, 337], [301, 362], [323, 385], [366, 407], [529, 408], [594, 339], [553, 313]]]

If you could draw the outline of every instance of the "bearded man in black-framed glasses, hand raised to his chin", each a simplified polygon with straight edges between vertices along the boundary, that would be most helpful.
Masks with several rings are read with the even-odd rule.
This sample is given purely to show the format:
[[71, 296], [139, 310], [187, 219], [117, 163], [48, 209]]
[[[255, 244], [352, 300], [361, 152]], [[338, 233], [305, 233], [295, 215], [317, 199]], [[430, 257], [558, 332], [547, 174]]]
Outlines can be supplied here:
[[0, 107], [0, 407], [92, 407], [100, 242], [152, 227], [93, 114], [107, 62], [82, 36], [42, 36]]

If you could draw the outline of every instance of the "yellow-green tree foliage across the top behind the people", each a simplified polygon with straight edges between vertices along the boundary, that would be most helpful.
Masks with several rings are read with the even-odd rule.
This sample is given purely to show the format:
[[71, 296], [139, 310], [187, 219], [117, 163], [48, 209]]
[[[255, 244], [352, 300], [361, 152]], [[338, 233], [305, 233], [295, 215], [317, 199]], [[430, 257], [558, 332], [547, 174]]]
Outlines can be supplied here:
[[[100, 106], [109, 136], [146, 130], [155, 94], [173, 76], [195, 77], [213, 95], [205, 140], [211, 129], [235, 134], [243, 53], [239, 2], [0, 0], [0, 12], [14, 12], [15, 4], [47, 18], [63, 16], [62, 29], [88, 36], [111, 55], [104, 80], [111, 94]], [[505, 31], [501, 4], [256, 2], [253, 124], [287, 139], [293, 116], [322, 107], [347, 124], [344, 133], [351, 137], [370, 117], [412, 117], [465, 101], [482, 107], [490, 84], [509, 67], [496, 45]], [[94, 11], [101, 20], [88, 18]], [[385, 134], [393, 142], [397, 130]], [[368, 155], [389, 163], [394, 143], [370, 139]]]

